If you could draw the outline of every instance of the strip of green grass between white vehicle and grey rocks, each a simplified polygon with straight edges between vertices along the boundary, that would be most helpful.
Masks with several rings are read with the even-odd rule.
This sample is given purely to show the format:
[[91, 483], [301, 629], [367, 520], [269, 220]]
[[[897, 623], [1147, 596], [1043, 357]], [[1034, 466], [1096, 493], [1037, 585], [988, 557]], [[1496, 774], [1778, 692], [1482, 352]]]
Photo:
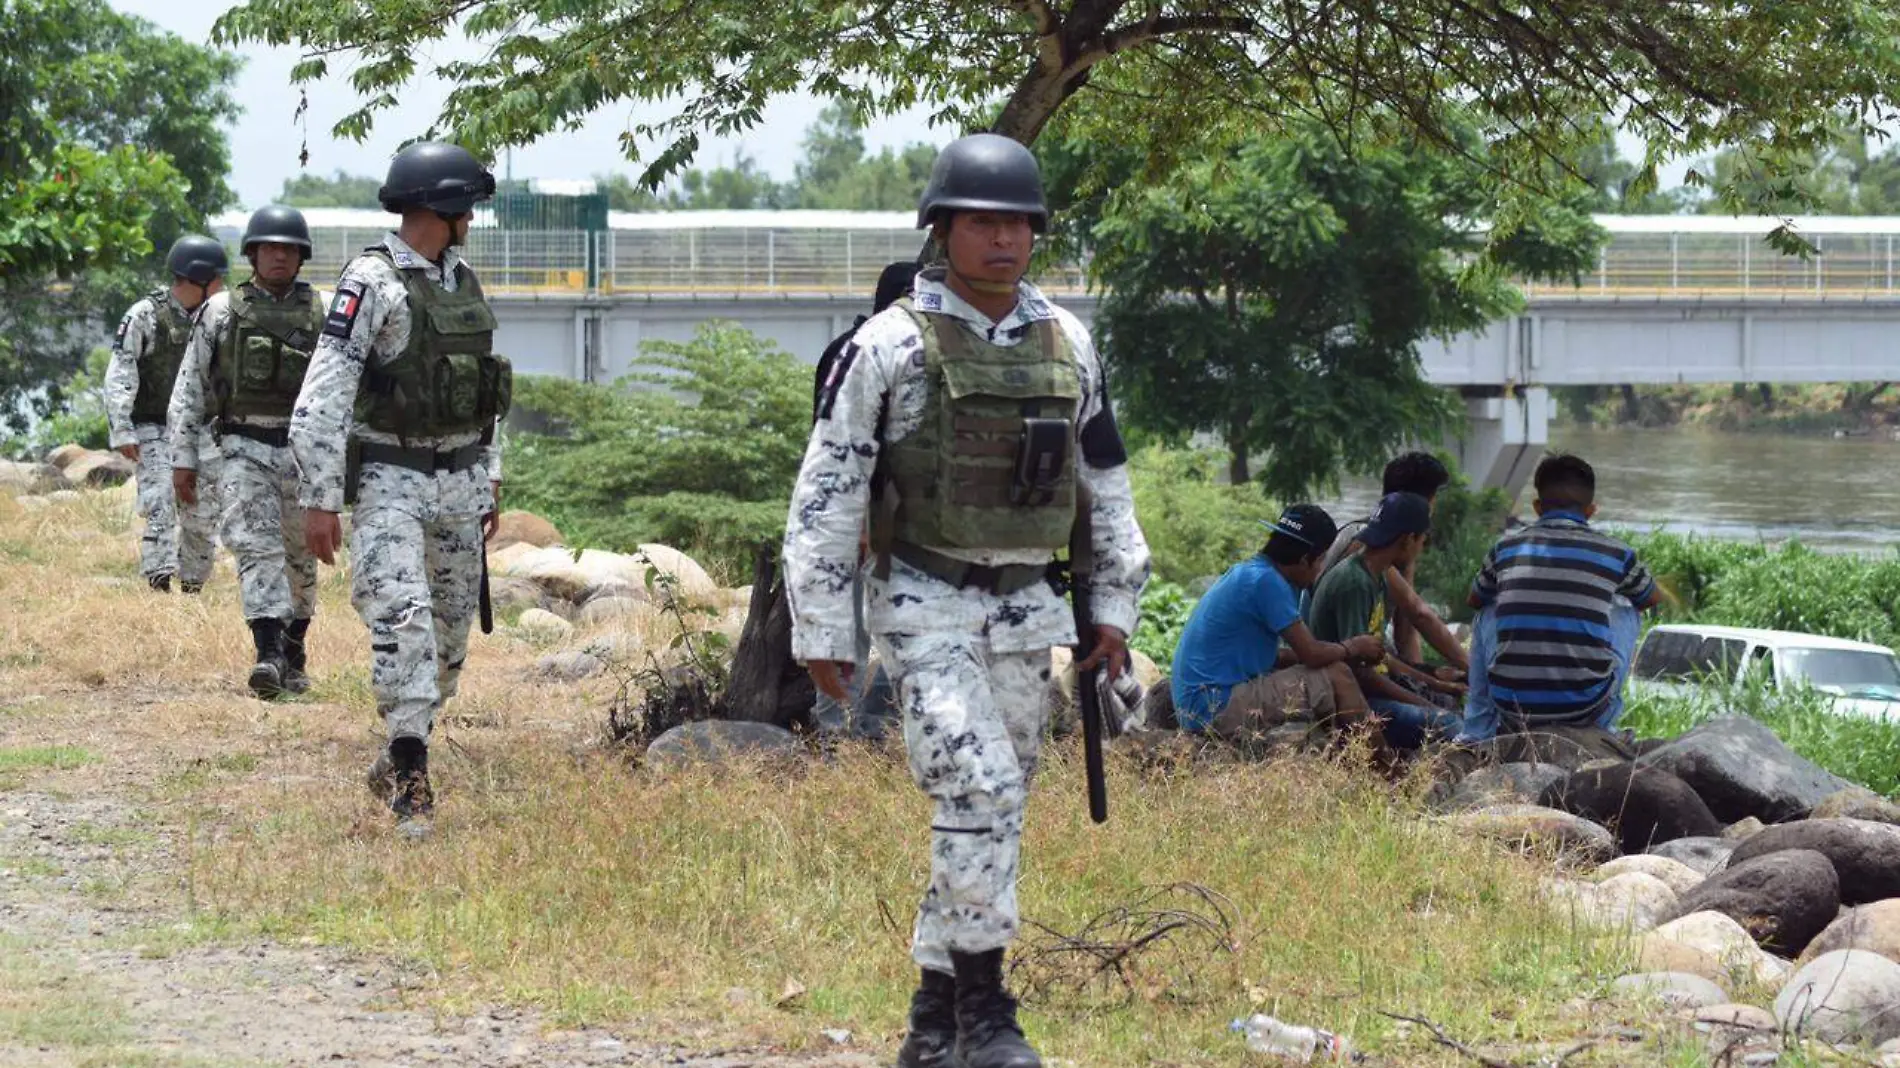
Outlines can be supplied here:
[[1900, 724], [1834, 713], [1828, 696], [1809, 688], [1729, 682], [1712, 690], [1683, 697], [1632, 696], [1619, 726], [1638, 737], [1676, 737], [1714, 716], [1744, 715], [1835, 775], [1883, 796], [1900, 794]]

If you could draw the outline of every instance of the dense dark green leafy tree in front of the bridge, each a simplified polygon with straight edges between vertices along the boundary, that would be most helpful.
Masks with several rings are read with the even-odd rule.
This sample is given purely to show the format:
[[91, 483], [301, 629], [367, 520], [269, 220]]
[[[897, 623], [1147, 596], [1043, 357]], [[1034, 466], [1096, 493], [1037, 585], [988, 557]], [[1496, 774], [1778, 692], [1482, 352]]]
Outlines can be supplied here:
[[[1045, 152], [1060, 200], [1075, 175], [1138, 156], [1062, 133]], [[1510, 276], [1575, 277], [1602, 239], [1579, 203], [1552, 203], [1480, 255], [1469, 220], [1495, 211], [1480, 165], [1347, 152], [1317, 125], [1112, 186], [1072, 215], [1091, 228], [1096, 340], [1125, 418], [1172, 441], [1214, 433], [1229, 477], [1281, 500], [1446, 429], [1454, 410], [1419, 340], [1516, 310]]]

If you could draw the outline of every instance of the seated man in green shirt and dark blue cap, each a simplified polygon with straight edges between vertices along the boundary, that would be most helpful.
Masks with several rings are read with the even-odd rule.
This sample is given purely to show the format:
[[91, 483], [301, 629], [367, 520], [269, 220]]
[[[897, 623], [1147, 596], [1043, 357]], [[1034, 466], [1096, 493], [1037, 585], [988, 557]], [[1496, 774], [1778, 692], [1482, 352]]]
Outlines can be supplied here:
[[[1381, 640], [1391, 621], [1387, 578], [1408, 570], [1431, 534], [1431, 504], [1417, 494], [1387, 494], [1358, 532], [1360, 549], [1328, 570], [1307, 602], [1305, 621], [1322, 642], [1345, 642], [1362, 635]], [[1366, 696], [1374, 716], [1396, 749], [1417, 749], [1429, 737], [1457, 732], [1457, 715], [1446, 713], [1400, 686], [1396, 675], [1414, 675], [1404, 659], [1387, 654], [1378, 663], [1353, 667], [1353, 678]], [[1421, 677], [1421, 684], [1434, 682]]]

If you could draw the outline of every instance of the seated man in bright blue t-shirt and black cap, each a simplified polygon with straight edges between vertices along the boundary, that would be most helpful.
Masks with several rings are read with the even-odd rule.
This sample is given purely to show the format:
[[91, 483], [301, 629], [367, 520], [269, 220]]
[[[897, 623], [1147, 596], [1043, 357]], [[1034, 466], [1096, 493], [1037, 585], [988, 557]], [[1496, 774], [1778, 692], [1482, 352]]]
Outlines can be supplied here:
[[1320, 642], [1300, 620], [1300, 591], [1319, 578], [1338, 536], [1332, 517], [1296, 504], [1267, 526], [1265, 547], [1201, 597], [1174, 646], [1174, 716], [1182, 730], [1248, 741], [1292, 720], [1368, 720], [1349, 661], [1374, 663], [1374, 635]]

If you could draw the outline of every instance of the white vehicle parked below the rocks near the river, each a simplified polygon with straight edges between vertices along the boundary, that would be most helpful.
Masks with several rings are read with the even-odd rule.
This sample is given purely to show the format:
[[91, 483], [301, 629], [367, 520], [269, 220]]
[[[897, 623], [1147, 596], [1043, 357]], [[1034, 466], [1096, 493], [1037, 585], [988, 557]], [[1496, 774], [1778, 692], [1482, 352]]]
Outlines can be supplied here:
[[1748, 678], [1811, 686], [1841, 715], [1900, 722], [1900, 659], [1890, 648], [1794, 631], [1657, 625], [1636, 650], [1630, 694], [1691, 696]]

